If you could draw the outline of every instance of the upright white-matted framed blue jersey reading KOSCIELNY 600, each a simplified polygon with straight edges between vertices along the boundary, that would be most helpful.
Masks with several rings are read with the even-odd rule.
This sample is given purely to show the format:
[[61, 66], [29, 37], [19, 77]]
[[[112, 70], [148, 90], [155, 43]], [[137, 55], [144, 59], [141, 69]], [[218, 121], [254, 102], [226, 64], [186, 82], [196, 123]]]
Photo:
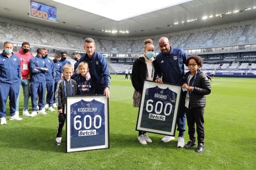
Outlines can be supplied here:
[[66, 141], [66, 152], [109, 148], [105, 95], [67, 96]]

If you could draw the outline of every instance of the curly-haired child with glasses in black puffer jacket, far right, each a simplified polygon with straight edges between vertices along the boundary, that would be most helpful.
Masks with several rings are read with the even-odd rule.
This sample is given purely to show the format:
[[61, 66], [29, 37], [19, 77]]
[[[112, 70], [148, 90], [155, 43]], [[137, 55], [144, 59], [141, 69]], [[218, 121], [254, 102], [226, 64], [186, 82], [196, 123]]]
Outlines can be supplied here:
[[204, 147], [204, 107], [206, 104], [206, 96], [211, 93], [210, 77], [207, 77], [201, 70], [203, 60], [197, 55], [189, 56], [188, 60], [189, 72], [185, 74], [182, 88], [187, 90], [185, 98], [185, 111], [188, 123], [188, 143], [185, 148], [191, 148], [196, 145], [195, 123], [197, 132], [198, 147], [197, 153], [202, 153]]

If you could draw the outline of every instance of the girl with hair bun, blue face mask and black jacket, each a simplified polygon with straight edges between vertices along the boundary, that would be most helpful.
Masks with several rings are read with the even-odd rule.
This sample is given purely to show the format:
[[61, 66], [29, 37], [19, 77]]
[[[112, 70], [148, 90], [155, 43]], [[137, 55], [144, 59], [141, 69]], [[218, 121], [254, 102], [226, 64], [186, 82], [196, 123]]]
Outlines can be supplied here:
[[[134, 88], [133, 93], [133, 107], [139, 107], [141, 103], [141, 94], [143, 90], [144, 80], [155, 81], [156, 72], [154, 60], [154, 50], [153, 41], [151, 39], [146, 39], [144, 41], [145, 47], [143, 55], [140, 55], [137, 60], [134, 61], [132, 66], [132, 86]], [[138, 141], [142, 145], [146, 145], [147, 142], [151, 143], [152, 140], [148, 137], [146, 132], [139, 131]]]

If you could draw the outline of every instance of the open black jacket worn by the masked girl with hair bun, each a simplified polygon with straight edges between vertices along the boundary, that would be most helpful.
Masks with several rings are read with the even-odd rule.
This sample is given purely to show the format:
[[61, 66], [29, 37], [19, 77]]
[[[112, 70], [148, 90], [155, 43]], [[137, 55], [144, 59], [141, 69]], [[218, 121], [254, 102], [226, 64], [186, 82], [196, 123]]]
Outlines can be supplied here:
[[[156, 61], [153, 61], [154, 70], [156, 68]], [[147, 64], [145, 58], [140, 56], [137, 60], [134, 61], [132, 66], [132, 86], [136, 91], [142, 93], [144, 80], [147, 79]], [[154, 78], [156, 79], [156, 72], [154, 71]]]

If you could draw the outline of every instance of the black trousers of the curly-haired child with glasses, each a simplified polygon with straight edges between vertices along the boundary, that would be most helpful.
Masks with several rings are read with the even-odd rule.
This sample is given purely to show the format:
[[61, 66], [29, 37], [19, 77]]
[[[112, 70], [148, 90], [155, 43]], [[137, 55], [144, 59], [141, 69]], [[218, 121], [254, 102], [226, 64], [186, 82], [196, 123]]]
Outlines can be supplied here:
[[[204, 144], [204, 107], [186, 108], [189, 139], [196, 142], [195, 132], [197, 133], [197, 142]], [[196, 130], [195, 130], [196, 124]]]

